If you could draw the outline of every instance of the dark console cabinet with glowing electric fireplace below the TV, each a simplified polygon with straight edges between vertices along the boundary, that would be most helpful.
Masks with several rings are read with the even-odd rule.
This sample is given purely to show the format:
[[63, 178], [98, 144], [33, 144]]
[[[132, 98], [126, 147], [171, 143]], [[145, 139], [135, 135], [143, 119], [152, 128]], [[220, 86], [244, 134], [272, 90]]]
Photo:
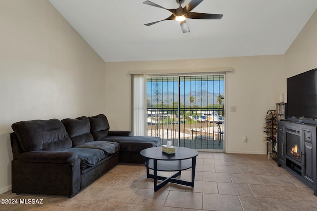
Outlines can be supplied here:
[[317, 196], [317, 125], [277, 121], [277, 164], [314, 188]]

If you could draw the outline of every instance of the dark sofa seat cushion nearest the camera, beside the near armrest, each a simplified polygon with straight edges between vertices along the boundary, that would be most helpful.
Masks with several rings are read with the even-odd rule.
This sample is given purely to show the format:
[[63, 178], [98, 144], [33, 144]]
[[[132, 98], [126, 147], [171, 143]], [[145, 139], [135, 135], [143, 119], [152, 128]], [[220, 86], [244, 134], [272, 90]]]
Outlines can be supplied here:
[[81, 169], [85, 169], [90, 166], [96, 165], [100, 160], [106, 158], [104, 151], [98, 149], [88, 149], [88, 148], [79, 148], [73, 147], [63, 152], [74, 152], [77, 154], [80, 159]]

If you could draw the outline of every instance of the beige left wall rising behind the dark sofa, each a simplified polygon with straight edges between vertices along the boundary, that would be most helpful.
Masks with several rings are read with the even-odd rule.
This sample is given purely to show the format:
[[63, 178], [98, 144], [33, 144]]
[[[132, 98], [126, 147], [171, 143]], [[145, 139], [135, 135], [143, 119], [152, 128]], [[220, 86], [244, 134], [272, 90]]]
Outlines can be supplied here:
[[0, 193], [11, 124], [104, 113], [105, 62], [47, 0], [0, 0]]

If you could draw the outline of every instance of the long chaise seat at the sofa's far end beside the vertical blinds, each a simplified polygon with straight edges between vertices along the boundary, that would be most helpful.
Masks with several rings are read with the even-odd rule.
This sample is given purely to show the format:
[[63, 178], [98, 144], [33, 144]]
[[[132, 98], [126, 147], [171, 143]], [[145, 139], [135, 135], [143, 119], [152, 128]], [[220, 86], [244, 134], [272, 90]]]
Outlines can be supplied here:
[[101, 141], [113, 141], [120, 144], [120, 152], [141, 152], [149, 147], [161, 146], [160, 137], [150, 136], [107, 136]]

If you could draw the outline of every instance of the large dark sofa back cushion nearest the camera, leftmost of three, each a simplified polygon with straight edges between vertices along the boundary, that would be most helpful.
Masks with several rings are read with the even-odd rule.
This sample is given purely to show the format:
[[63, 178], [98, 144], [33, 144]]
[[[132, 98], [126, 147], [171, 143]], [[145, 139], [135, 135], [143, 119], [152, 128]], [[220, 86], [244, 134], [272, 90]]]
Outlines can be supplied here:
[[72, 147], [64, 125], [58, 119], [21, 121], [11, 127], [24, 152], [61, 151]]

